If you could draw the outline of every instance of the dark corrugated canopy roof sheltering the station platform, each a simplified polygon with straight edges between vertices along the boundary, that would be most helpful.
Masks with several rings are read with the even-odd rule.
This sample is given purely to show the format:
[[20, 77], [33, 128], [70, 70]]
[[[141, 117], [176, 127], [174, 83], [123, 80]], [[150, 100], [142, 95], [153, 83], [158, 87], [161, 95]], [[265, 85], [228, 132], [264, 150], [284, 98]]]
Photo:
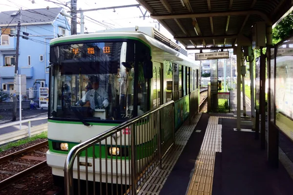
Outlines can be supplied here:
[[255, 22], [277, 22], [293, 0], [137, 0], [187, 49], [235, 45]]

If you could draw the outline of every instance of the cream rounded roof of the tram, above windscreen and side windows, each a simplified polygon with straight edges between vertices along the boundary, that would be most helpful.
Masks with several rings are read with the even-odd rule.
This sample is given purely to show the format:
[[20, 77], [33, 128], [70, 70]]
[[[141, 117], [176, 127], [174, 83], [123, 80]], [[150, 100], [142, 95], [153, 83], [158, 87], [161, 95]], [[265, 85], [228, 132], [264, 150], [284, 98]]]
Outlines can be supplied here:
[[171, 60], [175, 63], [180, 64], [180, 62], [184, 61], [184, 65], [198, 67], [198, 64], [195, 60], [188, 58], [183, 55], [179, 51], [176, 51], [166, 44], [161, 43], [160, 41], [155, 40], [149, 35], [143, 32], [105, 32], [105, 33], [90, 33], [90, 34], [81, 34], [81, 35], [71, 35], [66, 37], [60, 37], [56, 39], [52, 39], [50, 41], [50, 45], [54, 45], [57, 43], [66, 43], [66, 42], [75, 42], [75, 41], [85, 41], [85, 40], [105, 40], [105, 39], [133, 39], [133, 40], [141, 40], [145, 42], [147, 45], [151, 47], [153, 51], [165, 51], [169, 56], [167, 60]]

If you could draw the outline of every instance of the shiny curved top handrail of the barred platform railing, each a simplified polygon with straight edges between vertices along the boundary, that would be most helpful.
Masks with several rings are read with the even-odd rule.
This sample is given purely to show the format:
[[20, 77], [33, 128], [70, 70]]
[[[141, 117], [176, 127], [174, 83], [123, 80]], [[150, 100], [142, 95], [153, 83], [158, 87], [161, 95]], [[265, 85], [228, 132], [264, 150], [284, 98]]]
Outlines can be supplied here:
[[[73, 184], [73, 164], [74, 164], [74, 160], [75, 158], [77, 157], [78, 153], [79, 152], [82, 152], [84, 150], [86, 150], [87, 148], [91, 147], [91, 146], [94, 146], [95, 144], [101, 142], [102, 140], [105, 140], [106, 138], [108, 138], [109, 136], [117, 133], [118, 131], [122, 130], [122, 129], [125, 129], [133, 124], [135, 124], [136, 122], [140, 121], [141, 119], [144, 119], [146, 118], [147, 116], [149, 116], [150, 114], [152, 113], [155, 113], [156, 111], [162, 109], [162, 108], [165, 108], [167, 107], [168, 105], [173, 105], [173, 108], [175, 107], [175, 102], [173, 100], [167, 102], [166, 104], [163, 104], [161, 105], [160, 107], [158, 108], [155, 108], [153, 110], [150, 110], [140, 116], [137, 116], [133, 119], [130, 119], [124, 123], [122, 123], [121, 125], [119, 126], [116, 126], [110, 130], [107, 130], [103, 133], [100, 133], [99, 135], [93, 137], [93, 138], [90, 138], [86, 141], [84, 141], [83, 143], [80, 143], [76, 146], [74, 146], [69, 152], [68, 152], [68, 155], [66, 157], [66, 160], [65, 160], [65, 164], [64, 164], [64, 184], [65, 184], [65, 194], [66, 195], [71, 195], [73, 194], [73, 189], [71, 189], [70, 185]], [[133, 137], [135, 137], [135, 132], [131, 133]], [[173, 139], [174, 139], [174, 124], [173, 124]], [[174, 140], [173, 140], [174, 141]], [[133, 142], [133, 140], [132, 140]], [[160, 150], [160, 147], [159, 147], [159, 150]], [[133, 152], [133, 151], [132, 151]], [[132, 153], [131, 152], [131, 153]], [[160, 151], [159, 151], [160, 153]], [[131, 160], [135, 159], [133, 158], [133, 156], [131, 156]], [[132, 167], [133, 169], [133, 167]]]

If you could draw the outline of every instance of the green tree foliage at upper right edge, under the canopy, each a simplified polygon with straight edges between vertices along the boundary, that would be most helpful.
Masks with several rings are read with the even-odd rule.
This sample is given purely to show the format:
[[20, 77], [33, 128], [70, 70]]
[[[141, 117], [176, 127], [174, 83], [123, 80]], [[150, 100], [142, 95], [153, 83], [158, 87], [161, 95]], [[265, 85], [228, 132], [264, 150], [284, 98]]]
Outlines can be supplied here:
[[272, 29], [272, 43], [276, 44], [293, 33], [293, 12], [288, 14]]

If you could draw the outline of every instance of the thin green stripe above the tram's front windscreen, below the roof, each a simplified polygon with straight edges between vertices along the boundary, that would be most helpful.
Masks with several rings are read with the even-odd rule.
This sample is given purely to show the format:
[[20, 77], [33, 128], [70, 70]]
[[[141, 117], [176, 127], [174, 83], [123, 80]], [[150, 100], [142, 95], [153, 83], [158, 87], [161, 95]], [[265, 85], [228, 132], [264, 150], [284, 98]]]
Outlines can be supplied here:
[[144, 43], [146, 46], [148, 46], [149, 49], [150, 46], [144, 42], [143, 40], [136, 38], [136, 37], [127, 37], [127, 36], [117, 36], [117, 37], [87, 37], [87, 38], [77, 38], [77, 39], [66, 39], [66, 40], [60, 40], [60, 41], [54, 41], [52, 43], [50, 43], [50, 46], [53, 46], [54, 44], [57, 43], [67, 43], [67, 42], [78, 42], [78, 41], [88, 41], [88, 40], [106, 40], [106, 39], [131, 39], [131, 40], [136, 40], [136, 41], [140, 41], [142, 43]]

